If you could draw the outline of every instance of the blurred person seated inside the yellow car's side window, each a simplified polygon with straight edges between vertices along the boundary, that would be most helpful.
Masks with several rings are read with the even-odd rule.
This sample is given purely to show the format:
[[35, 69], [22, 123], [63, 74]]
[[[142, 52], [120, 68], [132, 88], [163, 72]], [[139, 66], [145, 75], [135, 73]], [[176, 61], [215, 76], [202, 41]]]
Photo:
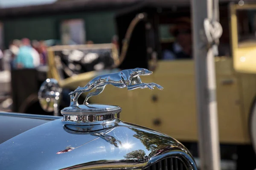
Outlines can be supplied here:
[[175, 42], [163, 51], [163, 59], [192, 59], [192, 35], [189, 17], [178, 18], [175, 26], [170, 28]]

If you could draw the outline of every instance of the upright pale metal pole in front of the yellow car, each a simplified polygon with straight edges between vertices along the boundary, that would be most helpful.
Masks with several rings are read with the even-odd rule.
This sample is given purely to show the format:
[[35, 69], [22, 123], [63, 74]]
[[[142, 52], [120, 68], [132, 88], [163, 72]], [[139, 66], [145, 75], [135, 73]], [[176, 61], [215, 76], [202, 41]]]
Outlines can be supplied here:
[[213, 1], [191, 0], [191, 10], [201, 170], [220, 170], [215, 61], [204, 36], [204, 20], [214, 15]]

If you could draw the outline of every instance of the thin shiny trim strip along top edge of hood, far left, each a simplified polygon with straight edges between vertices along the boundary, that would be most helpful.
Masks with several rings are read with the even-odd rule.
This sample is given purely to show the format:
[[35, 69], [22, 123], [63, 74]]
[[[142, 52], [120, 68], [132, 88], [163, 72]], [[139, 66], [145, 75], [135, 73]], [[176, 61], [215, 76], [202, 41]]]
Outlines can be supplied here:
[[23, 118], [31, 118], [31, 119], [44, 119], [44, 120], [56, 120], [56, 119], [63, 118], [62, 116], [47, 116], [47, 115], [11, 113], [11, 112], [0, 112], [0, 116], [13, 116], [13, 117], [23, 117]]

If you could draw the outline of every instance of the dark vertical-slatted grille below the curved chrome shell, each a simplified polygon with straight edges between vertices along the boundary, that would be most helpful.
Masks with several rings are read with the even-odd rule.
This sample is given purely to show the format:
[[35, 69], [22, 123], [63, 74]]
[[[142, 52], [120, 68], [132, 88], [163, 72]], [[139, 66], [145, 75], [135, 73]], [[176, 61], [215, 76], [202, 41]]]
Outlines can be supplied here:
[[144, 170], [188, 170], [183, 161], [178, 158], [166, 158], [157, 161]]

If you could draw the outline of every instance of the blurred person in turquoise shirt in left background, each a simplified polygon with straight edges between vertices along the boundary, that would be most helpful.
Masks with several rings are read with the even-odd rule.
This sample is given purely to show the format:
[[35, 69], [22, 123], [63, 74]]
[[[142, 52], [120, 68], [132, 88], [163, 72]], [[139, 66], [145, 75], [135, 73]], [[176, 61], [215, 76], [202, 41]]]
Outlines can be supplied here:
[[30, 40], [27, 38], [23, 38], [22, 46], [15, 57], [15, 68], [35, 68], [33, 63], [33, 56], [32, 56], [32, 47], [30, 45]]

